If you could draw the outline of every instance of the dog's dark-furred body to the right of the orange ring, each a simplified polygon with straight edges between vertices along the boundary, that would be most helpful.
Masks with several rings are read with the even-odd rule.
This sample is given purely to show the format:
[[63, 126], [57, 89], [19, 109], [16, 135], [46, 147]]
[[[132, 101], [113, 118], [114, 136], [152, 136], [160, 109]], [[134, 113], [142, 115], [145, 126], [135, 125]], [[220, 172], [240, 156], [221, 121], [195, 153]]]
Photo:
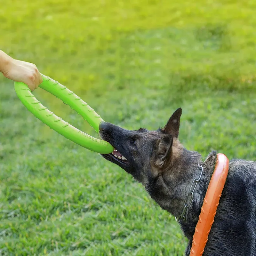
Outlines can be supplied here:
[[256, 162], [230, 160], [203, 255], [256, 255]]

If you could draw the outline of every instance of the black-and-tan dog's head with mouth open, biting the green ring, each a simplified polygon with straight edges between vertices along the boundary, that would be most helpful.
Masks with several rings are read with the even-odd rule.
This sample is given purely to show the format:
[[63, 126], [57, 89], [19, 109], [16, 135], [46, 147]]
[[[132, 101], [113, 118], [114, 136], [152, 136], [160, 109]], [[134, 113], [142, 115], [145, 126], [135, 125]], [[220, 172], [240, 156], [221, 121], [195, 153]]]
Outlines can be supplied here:
[[165, 127], [157, 131], [144, 128], [130, 131], [107, 122], [100, 123], [101, 138], [115, 148], [111, 154], [102, 156], [132, 174], [139, 182], [147, 182], [164, 172], [179, 154], [181, 113], [181, 108], [178, 108]]

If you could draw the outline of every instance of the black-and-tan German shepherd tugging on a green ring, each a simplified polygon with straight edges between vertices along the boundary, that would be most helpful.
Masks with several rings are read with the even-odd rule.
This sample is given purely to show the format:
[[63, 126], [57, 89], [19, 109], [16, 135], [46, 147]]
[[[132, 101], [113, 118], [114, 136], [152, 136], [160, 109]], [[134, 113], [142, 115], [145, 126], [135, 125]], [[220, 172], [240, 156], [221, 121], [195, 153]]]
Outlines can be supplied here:
[[[185, 252], [188, 256], [217, 152], [211, 152], [202, 161], [199, 153], [181, 145], [178, 140], [181, 113], [178, 108], [165, 127], [157, 131], [143, 128], [130, 131], [106, 122], [99, 129], [101, 138], [115, 148], [111, 154], [102, 156], [141, 182], [149, 196], [175, 217], [183, 211], [193, 180], [200, 176], [198, 166], [203, 166], [186, 219], [178, 220], [189, 240]], [[220, 255], [256, 255], [256, 162], [229, 161], [228, 177], [203, 253], [203, 256]]]

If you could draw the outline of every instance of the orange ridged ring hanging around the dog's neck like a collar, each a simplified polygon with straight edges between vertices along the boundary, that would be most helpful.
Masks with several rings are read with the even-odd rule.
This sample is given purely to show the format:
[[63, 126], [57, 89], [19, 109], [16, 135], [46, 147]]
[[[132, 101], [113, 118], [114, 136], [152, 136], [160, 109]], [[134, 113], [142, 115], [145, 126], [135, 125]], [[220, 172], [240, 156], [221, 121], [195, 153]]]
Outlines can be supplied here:
[[202, 256], [208, 235], [214, 222], [220, 196], [228, 175], [229, 160], [224, 154], [217, 154], [217, 163], [212, 173], [199, 220], [196, 225], [190, 256]]

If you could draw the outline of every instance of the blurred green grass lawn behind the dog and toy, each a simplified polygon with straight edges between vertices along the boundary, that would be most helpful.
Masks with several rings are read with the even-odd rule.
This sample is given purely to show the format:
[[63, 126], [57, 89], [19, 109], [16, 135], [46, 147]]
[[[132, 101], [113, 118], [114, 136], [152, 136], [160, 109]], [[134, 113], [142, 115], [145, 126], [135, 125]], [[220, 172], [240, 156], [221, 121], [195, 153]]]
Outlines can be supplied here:
[[[255, 1], [3, 1], [1, 49], [104, 120], [157, 129], [203, 156], [256, 158]], [[95, 136], [40, 89], [55, 114]], [[0, 254], [173, 255], [186, 239], [132, 178], [26, 111], [0, 77]]]

